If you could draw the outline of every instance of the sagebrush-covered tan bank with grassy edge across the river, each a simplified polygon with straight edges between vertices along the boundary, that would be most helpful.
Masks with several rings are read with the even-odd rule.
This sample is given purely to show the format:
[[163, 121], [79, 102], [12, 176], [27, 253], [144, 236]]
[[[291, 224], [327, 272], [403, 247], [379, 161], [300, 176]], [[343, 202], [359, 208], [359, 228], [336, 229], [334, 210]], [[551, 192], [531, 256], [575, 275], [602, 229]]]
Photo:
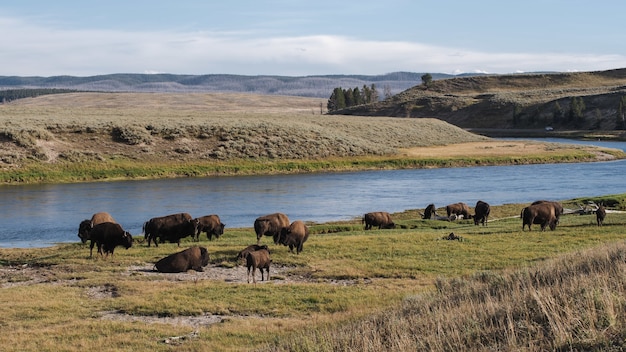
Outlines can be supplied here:
[[431, 118], [320, 115], [320, 103], [246, 94], [71, 93], [20, 99], [0, 105], [0, 184], [626, 157], [623, 151], [587, 146], [503, 145]]

